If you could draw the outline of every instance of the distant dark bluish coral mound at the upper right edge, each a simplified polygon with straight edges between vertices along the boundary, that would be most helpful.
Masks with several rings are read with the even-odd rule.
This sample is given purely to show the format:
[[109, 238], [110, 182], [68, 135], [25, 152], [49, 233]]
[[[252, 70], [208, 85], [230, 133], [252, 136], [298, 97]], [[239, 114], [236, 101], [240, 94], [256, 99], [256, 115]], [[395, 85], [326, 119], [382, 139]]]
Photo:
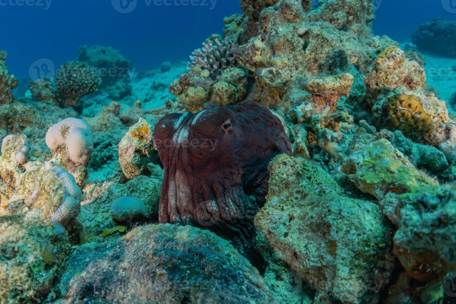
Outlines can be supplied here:
[[456, 45], [452, 42], [455, 39], [456, 22], [444, 18], [434, 18], [431, 22], [420, 24], [412, 35], [418, 50], [445, 57], [456, 57]]

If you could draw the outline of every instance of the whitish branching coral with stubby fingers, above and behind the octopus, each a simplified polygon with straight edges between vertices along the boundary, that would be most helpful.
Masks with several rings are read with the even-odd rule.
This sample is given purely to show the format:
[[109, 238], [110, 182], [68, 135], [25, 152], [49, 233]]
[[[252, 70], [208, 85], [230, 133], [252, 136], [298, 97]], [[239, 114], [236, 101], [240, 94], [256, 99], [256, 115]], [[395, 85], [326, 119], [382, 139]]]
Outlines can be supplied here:
[[233, 67], [236, 60], [233, 57], [233, 51], [237, 44], [228, 40], [220, 40], [217, 37], [210, 37], [202, 44], [201, 49], [195, 50], [190, 56], [192, 62], [188, 67], [201, 67], [203, 69], [217, 72], [228, 67]]

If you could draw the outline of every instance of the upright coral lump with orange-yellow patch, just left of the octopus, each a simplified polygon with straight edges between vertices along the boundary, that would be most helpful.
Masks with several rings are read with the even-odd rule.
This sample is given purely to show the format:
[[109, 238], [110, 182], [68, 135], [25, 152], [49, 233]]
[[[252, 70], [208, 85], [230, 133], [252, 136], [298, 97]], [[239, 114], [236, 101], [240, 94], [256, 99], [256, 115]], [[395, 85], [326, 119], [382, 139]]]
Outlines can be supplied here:
[[147, 169], [147, 164], [160, 163], [155, 151], [154, 128], [153, 124], [140, 118], [120, 140], [119, 164], [128, 179], [142, 174]]

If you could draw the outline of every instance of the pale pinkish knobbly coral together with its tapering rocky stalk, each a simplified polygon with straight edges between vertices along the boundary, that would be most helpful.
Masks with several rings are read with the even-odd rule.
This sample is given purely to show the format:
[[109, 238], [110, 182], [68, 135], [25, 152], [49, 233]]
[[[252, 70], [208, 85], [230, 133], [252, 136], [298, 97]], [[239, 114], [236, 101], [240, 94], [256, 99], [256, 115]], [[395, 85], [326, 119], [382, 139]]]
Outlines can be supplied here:
[[52, 163], [68, 170], [82, 185], [93, 152], [90, 126], [82, 119], [63, 119], [47, 131], [46, 144], [52, 152]]

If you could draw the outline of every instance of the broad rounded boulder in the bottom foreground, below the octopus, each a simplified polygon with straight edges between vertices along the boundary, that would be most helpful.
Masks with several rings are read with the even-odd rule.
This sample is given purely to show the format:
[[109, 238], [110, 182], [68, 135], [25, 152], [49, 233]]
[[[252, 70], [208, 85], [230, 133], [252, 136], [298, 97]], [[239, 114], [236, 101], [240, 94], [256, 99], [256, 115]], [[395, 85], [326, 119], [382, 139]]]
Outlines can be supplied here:
[[258, 270], [209, 231], [143, 226], [109, 246], [72, 255], [60, 284], [70, 301], [278, 303]]

